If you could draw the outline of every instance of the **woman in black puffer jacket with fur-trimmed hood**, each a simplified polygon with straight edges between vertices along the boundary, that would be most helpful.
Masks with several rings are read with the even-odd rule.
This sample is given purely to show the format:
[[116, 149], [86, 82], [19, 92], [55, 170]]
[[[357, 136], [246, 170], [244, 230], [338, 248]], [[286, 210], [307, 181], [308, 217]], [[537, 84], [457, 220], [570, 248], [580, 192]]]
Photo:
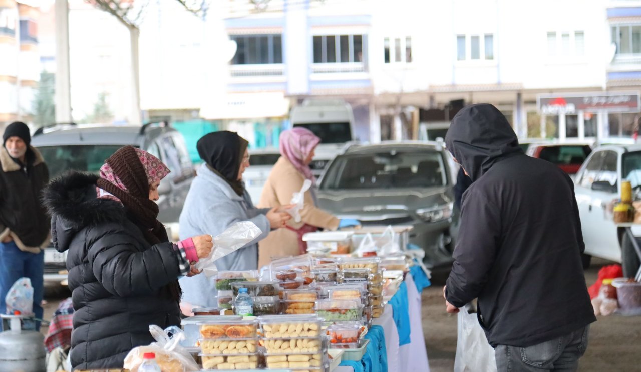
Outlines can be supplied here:
[[201, 235], [172, 244], [156, 219], [158, 184], [169, 169], [131, 146], [100, 177], [67, 173], [44, 191], [55, 248], [69, 250], [74, 369], [122, 368], [132, 348], [153, 342], [149, 325], [180, 324], [178, 277], [212, 249]]

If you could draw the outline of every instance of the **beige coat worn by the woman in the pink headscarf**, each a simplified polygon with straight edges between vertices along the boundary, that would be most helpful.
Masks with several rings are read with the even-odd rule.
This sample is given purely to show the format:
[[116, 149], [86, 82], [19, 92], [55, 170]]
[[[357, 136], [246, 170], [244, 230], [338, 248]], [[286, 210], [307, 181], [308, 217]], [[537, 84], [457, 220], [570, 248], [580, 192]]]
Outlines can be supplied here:
[[[288, 205], [294, 192], [299, 192], [303, 187], [305, 178], [285, 157], [281, 156], [269, 174], [263, 193], [260, 196], [258, 208], [272, 208]], [[316, 207], [312, 191], [305, 192], [305, 205], [301, 210], [303, 221], [295, 223], [290, 220], [288, 224], [293, 228], [300, 228], [303, 224], [311, 224], [326, 230], [338, 228], [338, 218]], [[273, 230], [269, 236], [258, 243], [258, 267], [269, 264], [272, 258], [299, 255], [298, 238], [296, 232], [287, 228]]]

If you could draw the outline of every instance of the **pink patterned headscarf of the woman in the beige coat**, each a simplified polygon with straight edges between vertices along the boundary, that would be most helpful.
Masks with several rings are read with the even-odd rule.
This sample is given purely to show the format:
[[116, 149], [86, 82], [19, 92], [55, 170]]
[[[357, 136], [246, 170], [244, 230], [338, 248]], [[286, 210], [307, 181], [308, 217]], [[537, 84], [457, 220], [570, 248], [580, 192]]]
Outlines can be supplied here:
[[316, 183], [316, 178], [313, 176], [310, 166], [305, 164], [305, 159], [319, 143], [320, 138], [311, 130], [299, 126], [283, 131], [280, 136], [281, 155], [285, 156], [312, 183]]

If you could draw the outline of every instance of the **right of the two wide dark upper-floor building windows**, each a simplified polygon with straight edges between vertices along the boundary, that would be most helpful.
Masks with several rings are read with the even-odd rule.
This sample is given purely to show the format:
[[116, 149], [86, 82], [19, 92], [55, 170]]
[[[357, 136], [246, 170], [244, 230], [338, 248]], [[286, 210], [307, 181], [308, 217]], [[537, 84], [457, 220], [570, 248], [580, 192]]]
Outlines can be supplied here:
[[[313, 37], [314, 63], [363, 62], [363, 35], [317, 35]], [[387, 48], [386, 62], [389, 59]]]

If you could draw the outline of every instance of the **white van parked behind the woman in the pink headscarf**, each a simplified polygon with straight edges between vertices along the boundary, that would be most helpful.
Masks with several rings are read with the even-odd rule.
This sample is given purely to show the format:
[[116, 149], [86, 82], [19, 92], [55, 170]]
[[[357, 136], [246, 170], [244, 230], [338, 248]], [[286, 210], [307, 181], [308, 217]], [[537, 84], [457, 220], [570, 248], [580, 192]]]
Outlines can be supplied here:
[[320, 145], [310, 167], [319, 177], [326, 165], [354, 140], [354, 114], [342, 99], [308, 98], [290, 113], [292, 126], [302, 126], [320, 137]]

